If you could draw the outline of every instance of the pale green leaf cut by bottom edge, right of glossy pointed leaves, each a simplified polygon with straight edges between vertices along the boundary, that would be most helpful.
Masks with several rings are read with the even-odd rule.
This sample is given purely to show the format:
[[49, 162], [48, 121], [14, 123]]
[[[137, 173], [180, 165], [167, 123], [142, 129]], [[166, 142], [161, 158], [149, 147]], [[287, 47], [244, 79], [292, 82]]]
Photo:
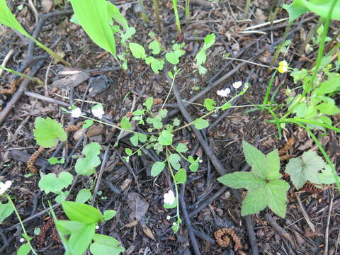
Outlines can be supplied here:
[[94, 255], [118, 255], [124, 252], [125, 249], [120, 246], [120, 242], [117, 239], [103, 234], [95, 234], [94, 243], [91, 244], [90, 251]]

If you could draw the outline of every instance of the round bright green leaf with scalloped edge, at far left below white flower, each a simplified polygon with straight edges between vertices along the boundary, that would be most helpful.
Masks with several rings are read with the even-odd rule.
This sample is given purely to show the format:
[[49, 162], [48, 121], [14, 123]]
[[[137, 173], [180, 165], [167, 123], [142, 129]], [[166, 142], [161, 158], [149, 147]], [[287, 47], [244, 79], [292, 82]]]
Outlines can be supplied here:
[[37, 144], [44, 148], [57, 146], [58, 141], [66, 141], [67, 134], [62, 129], [62, 125], [56, 120], [47, 118], [36, 118], [34, 125], [34, 137]]

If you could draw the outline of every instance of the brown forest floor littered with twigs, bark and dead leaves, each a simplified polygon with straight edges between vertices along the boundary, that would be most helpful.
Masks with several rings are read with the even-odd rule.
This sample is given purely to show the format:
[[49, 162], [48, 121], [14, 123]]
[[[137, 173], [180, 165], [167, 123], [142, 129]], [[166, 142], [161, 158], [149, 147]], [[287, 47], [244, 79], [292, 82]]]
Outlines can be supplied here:
[[[43, 13], [43, 8], [47, 8], [45, 13], [62, 11], [60, 15], [50, 16], [42, 23], [38, 40], [47, 46], [54, 45], [53, 50], [64, 56], [64, 60], [72, 64], [73, 69], [46, 57], [39, 47], [35, 47], [33, 52], [27, 52], [26, 38], [10, 28], [0, 27], [0, 60], [4, 60], [8, 52], [13, 50], [6, 67], [21, 72], [30, 68], [34, 77], [45, 82], [38, 86], [23, 81], [18, 84], [19, 92], [0, 94], [0, 179], [13, 181], [11, 197], [25, 220], [28, 234], [34, 237], [32, 242], [38, 254], [63, 254], [62, 244], [51, 234], [54, 225], [50, 229], [47, 227], [50, 224], [50, 215], [45, 211], [47, 200], [53, 201], [55, 195], [46, 195], [40, 191], [40, 175], [31, 174], [26, 165], [30, 155], [38, 149], [33, 137], [35, 118], [50, 116], [67, 127], [81, 120], [62, 113], [62, 107], [67, 108], [73, 103], [86, 112], [94, 103], [103, 103], [106, 119], [119, 123], [133, 104], [138, 108], [150, 96], [159, 99], [159, 102], [164, 101], [171, 84], [162, 72], [154, 74], [145, 62], [133, 57], [128, 61], [128, 74], [122, 72], [108, 52], [95, 45], [80, 26], [70, 22], [72, 11], [69, 4], [49, 7], [45, 6], [48, 1], [33, 1], [33, 8], [28, 4], [32, 1], [23, 1], [23, 8], [18, 8], [18, 1], [7, 2], [30, 34], [33, 34], [39, 22], [35, 11]], [[180, 2], [183, 4], [183, 1]], [[171, 45], [178, 42], [171, 1], [159, 1], [162, 33], [158, 33], [154, 22], [152, 1], [147, 1], [145, 6], [149, 24], [142, 22], [136, 8], [137, 1], [113, 1], [113, 4], [120, 8], [130, 26], [137, 30], [133, 38], [135, 42], [147, 45], [151, 41], [148, 36], [150, 32], [156, 33], [166, 48], [170, 49]], [[205, 142], [227, 172], [249, 169], [244, 161], [242, 140], [255, 145], [264, 153], [276, 148], [282, 149], [291, 137], [295, 142], [286, 154], [297, 157], [308, 150], [317, 150], [305, 130], [287, 125], [283, 130], [283, 139], [278, 140], [276, 127], [266, 122], [271, 119], [271, 115], [249, 111], [254, 109], [249, 105], [263, 102], [271, 79], [271, 74], [267, 73], [268, 67], [265, 66], [271, 64], [276, 45], [288, 21], [259, 26], [256, 33], [246, 33], [247, 28], [268, 21], [271, 1], [251, 1], [251, 11], [246, 19], [242, 18], [244, 5], [245, 1], [238, 0], [192, 0], [190, 23], [186, 23], [184, 8], [179, 8], [186, 55], [181, 57], [178, 64], [181, 72], [176, 77], [176, 84], [183, 101], [194, 98], [192, 103], [202, 105], [205, 98], [212, 98], [220, 105], [224, 98], [217, 95], [217, 90], [231, 87], [235, 81], [250, 84], [246, 94], [233, 102], [233, 106], [238, 107], [229, 108], [226, 113], [211, 115], [208, 118], [210, 126], [201, 130]], [[276, 20], [287, 17], [288, 13], [279, 11]], [[295, 21], [288, 35], [290, 45], [279, 60], [286, 60], [290, 67], [310, 67], [317, 57], [317, 45], [312, 45], [308, 53], [303, 50], [298, 52], [306, 34], [317, 21], [313, 13], [306, 13]], [[339, 31], [339, 23], [336, 24], [330, 27], [330, 34]], [[216, 42], [210, 48], [204, 65], [208, 72], [202, 76], [195, 67], [194, 57], [202, 47], [205, 35], [210, 33], [215, 33]], [[34, 58], [27, 64], [26, 60], [32, 57], [32, 53]], [[227, 60], [226, 55], [239, 60]], [[104, 89], [99, 88], [99, 94], [92, 89], [89, 91], [89, 79], [82, 82], [77, 80], [73, 84], [65, 83], [63, 72], [74, 69], [86, 71], [90, 79], [104, 77], [102, 83], [97, 80], [95, 84], [104, 86]], [[0, 77], [0, 89], [10, 89], [9, 84], [15, 79], [18, 78], [4, 72]], [[285, 89], [296, 86], [289, 73], [277, 75], [273, 81], [273, 90], [277, 92], [275, 101], [284, 103], [287, 98]], [[11, 104], [9, 110], [8, 104]], [[166, 109], [185, 121], [177, 106], [176, 98], [171, 93]], [[186, 108], [193, 118], [204, 114], [200, 105], [191, 104]], [[335, 115], [334, 120], [339, 121], [339, 117]], [[256, 215], [242, 217], [240, 202], [244, 198], [244, 191], [232, 191], [216, 180], [220, 175], [196, 135], [193, 135], [191, 128], [183, 129], [177, 133], [175, 140], [185, 142], [189, 152], [200, 157], [203, 162], [198, 171], [188, 174], [185, 191], [181, 193], [185, 201], [181, 206], [186, 207], [191, 225], [182, 217], [183, 224], [174, 234], [171, 221], [166, 220], [167, 215], [174, 213], [162, 206], [164, 193], [169, 191], [169, 181], [165, 174], [160, 174], [157, 179], [150, 175], [152, 159], [143, 154], [141, 157], [134, 155], [130, 162], [124, 162], [124, 149], [130, 147], [128, 136], [120, 140], [118, 147], [113, 147], [118, 132], [109, 126], [96, 124], [87, 130], [86, 135], [80, 131], [69, 133], [63, 147], [40, 154], [35, 162], [36, 167], [46, 174], [60, 171], [74, 173], [75, 159], [70, 157], [73, 149], [76, 154], [81, 154], [82, 148], [89, 142], [99, 142], [103, 148], [107, 148], [108, 157], [106, 162], [102, 162], [105, 167], [95, 206], [100, 210], [116, 210], [117, 215], [101, 225], [98, 232], [118, 239], [125, 247], [124, 254], [194, 254], [189, 230], [195, 234], [200, 254], [324, 254], [325, 245], [328, 246], [328, 254], [340, 254], [340, 227], [336, 223], [340, 220], [340, 197], [333, 188], [320, 190], [309, 187], [300, 191], [290, 188], [284, 219], [271, 213], [268, 208]], [[338, 155], [339, 166], [340, 146], [336, 133], [316, 131], [315, 135], [331, 159]], [[105, 150], [101, 151], [102, 159]], [[69, 160], [65, 164], [47, 164], [52, 154]], [[281, 169], [284, 169], [285, 164], [287, 161], [281, 161]], [[68, 199], [74, 200], [82, 188], [93, 188], [93, 181], [93, 177], [79, 176]], [[55, 212], [63, 217], [60, 207], [56, 207]], [[40, 234], [35, 235], [33, 232], [37, 228], [40, 228]], [[234, 251], [234, 242], [227, 247], [217, 244], [214, 232], [222, 228], [233, 229], [243, 248]], [[1, 253], [13, 254], [20, 246], [20, 238], [21, 227], [13, 214], [1, 225]], [[256, 243], [259, 251], [254, 251], [254, 247], [251, 249], [251, 243]]]

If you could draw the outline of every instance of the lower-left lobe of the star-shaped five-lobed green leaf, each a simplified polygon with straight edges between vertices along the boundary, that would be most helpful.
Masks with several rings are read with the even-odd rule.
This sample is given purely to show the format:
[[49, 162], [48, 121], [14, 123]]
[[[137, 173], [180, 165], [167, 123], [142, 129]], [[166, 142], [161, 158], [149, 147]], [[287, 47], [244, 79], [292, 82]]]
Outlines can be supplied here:
[[266, 186], [255, 188], [246, 194], [246, 198], [242, 201], [241, 215], [251, 215], [257, 213], [267, 206]]

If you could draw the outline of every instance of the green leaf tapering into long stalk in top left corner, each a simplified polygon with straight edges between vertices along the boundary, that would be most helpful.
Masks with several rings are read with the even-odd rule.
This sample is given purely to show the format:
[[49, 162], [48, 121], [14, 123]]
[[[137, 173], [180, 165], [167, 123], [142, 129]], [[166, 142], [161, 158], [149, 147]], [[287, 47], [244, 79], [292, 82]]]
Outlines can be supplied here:
[[16, 20], [16, 17], [13, 16], [13, 13], [11, 13], [11, 10], [8, 8], [6, 4], [6, 0], [0, 0], [0, 24], [4, 26], [8, 26], [9, 28], [12, 28], [18, 33], [21, 33], [22, 35], [25, 35], [30, 40], [33, 40], [36, 45], [42, 48], [42, 50], [45, 50], [48, 54], [50, 54], [52, 57], [55, 57], [60, 62], [67, 64], [70, 66], [69, 63], [67, 63], [65, 60], [62, 59], [59, 55], [57, 55], [55, 52], [50, 50], [50, 48], [46, 47], [45, 45], [42, 45], [38, 40], [33, 38], [29, 33], [26, 32], [25, 29], [21, 26], [20, 23]]

